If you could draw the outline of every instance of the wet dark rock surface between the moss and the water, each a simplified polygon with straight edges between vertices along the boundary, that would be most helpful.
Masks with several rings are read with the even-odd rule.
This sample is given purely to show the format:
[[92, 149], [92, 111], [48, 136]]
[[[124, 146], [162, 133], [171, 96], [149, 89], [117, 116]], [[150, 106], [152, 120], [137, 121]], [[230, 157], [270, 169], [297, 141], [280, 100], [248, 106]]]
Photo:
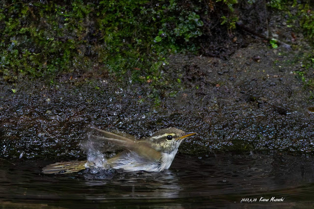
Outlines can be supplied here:
[[192, 155], [312, 153], [313, 100], [293, 73], [295, 53], [255, 41], [228, 60], [172, 55], [163, 76], [173, 83], [154, 88], [102, 75], [65, 75], [51, 85], [1, 80], [0, 157], [86, 157], [80, 142], [88, 126], [136, 137], [167, 127], [196, 131], [179, 148]]

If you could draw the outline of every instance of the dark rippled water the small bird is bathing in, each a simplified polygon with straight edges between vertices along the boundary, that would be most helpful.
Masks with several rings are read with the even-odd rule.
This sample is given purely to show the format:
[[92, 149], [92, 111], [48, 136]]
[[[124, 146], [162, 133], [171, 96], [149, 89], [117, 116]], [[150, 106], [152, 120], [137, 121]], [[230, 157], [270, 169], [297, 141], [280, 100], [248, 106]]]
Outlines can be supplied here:
[[[14, 164], [12, 164], [14, 163]], [[177, 155], [161, 173], [44, 175], [48, 161], [0, 160], [0, 204], [16, 208], [313, 207], [314, 158]], [[283, 202], [259, 202], [261, 197]], [[245, 203], [242, 199], [257, 199]]]

